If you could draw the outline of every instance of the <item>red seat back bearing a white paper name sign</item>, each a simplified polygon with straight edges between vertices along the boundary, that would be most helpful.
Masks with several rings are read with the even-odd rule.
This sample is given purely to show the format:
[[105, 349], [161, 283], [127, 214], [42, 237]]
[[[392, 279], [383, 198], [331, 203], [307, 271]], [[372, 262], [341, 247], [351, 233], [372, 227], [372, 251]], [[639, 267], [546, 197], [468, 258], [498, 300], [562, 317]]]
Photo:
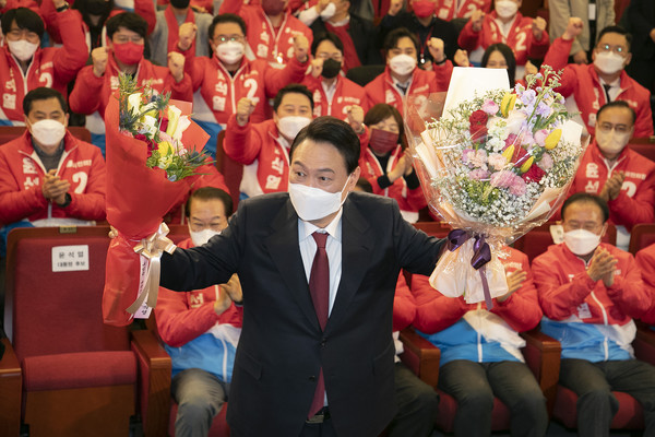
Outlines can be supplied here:
[[103, 323], [108, 232], [93, 226], [9, 234], [4, 320], [20, 359], [129, 351], [128, 329]]

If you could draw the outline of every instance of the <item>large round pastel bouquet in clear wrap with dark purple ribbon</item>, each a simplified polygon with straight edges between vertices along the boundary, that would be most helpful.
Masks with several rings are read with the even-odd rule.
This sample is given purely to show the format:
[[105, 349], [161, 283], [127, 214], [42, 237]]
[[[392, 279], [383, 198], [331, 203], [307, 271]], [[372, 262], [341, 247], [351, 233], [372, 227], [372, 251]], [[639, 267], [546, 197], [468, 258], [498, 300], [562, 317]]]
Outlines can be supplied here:
[[[465, 70], [461, 75], [477, 69]], [[446, 101], [440, 119], [409, 109], [409, 143], [428, 203], [455, 228], [430, 277], [444, 295], [490, 308], [508, 292], [502, 245], [546, 222], [564, 200], [584, 146], [558, 85], [546, 67], [512, 92], [487, 86], [450, 108]]]

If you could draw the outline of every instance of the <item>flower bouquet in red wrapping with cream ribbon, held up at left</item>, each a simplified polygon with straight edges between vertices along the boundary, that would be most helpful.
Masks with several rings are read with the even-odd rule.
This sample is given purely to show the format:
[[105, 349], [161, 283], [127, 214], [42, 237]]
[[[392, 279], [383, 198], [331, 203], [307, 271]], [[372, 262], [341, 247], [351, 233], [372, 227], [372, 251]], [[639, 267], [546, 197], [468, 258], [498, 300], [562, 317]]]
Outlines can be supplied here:
[[209, 135], [189, 117], [191, 104], [169, 101], [128, 76], [105, 110], [107, 252], [103, 318], [124, 326], [147, 318], [157, 300], [159, 258], [175, 245], [162, 217], [189, 192], [207, 164]]

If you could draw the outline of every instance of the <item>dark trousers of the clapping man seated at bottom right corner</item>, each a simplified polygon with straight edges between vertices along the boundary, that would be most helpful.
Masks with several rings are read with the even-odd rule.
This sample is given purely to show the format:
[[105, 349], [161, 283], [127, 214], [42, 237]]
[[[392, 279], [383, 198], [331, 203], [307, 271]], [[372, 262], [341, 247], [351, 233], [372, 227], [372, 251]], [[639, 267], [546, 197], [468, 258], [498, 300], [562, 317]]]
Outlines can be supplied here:
[[577, 394], [577, 434], [609, 436], [611, 420], [619, 410], [611, 391], [622, 391], [644, 409], [644, 436], [655, 436], [655, 367], [639, 359], [591, 363], [562, 359], [560, 382]]

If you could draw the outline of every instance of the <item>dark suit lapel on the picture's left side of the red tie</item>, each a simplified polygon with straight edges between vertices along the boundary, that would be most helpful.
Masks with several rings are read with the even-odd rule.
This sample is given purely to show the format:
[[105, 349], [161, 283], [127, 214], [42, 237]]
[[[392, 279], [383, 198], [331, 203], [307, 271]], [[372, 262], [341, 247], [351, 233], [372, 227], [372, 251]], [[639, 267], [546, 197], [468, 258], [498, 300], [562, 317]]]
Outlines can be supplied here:
[[271, 223], [273, 233], [264, 244], [291, 295], [311, 324], [321, 330], [314, 311], [298, 243], [298, 215], [290, 201]]

